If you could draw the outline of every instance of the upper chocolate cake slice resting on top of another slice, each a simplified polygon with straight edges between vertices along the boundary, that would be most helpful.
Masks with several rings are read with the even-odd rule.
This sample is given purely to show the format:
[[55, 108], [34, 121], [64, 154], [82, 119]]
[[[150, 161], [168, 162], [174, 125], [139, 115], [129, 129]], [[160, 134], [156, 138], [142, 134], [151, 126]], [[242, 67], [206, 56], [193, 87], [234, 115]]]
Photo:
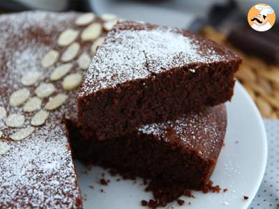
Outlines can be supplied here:
[[116, 24], [93, 57], [78, 94], [86, 137], [120, 137], [147, 123], [230, 100], [241, 59], [182, 29]]

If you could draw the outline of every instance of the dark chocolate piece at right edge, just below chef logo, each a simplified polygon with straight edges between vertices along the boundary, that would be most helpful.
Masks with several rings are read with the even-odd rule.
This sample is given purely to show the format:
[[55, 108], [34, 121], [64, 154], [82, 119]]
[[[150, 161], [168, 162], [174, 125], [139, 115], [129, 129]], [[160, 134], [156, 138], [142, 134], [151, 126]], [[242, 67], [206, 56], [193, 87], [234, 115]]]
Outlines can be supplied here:
[[227, 40], [250, 55], [271, 63], [279, 63], [279, 29], [259, 32], [246, 27], [233, 29]]

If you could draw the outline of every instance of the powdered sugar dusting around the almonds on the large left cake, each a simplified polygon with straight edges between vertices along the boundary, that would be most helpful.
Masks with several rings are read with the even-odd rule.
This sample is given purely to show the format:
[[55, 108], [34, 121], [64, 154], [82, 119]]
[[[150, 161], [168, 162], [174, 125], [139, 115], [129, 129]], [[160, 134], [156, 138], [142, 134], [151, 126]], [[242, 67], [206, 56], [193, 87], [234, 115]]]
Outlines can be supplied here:
[[[24, 112], [22, 106], [11, 107], [10, 95], [22, 88], [22, 76], [39, 72], [40, 82], [27, 86], [30, 97], [42, 83], [51, 83], [51, 68], [43, 68], [43, 56], [55, 49], [59, 34], [75, 27], [75, 13], [25, 12], [0, 16], [0, 107], [10, 114], [22, 114], [25, 122], [20, 128], [30, 127], [30, 121], [37, 111]], [[90, 52], [91, 43], [82, 44], [82, 50]], [[78, 70], [77, 63], [72, 62]], [[82, 71], [82, 70], [80, 70]], [[55, 82], [56, 93], [65, 93], [61, 84]], [[6, 141], [10, 150], [0, 157], [0, 205], [4, 208], [77, 208], [80, 192], [71, 152], [66, 138], [66, 127], [61, 120], [74, 115], [77, 91], [67, 93], [69, 101], [59, 109], [50, 112], [44, 125], [36, 127], [35, 132], [22, 141], [13, 141], [10, 136], [20, 128], [10, 128], [0, 119], [1, 140]], [[43, 99], [45, 107], [48, 98]]]

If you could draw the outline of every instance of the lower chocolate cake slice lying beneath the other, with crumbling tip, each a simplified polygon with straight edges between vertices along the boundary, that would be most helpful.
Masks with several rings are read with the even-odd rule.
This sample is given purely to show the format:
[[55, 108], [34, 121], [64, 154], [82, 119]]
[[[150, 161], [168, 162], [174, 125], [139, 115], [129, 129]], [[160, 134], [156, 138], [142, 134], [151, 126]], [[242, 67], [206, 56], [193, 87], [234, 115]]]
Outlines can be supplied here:
[[67, 124], [75, 157], [128, 178], [151, 180], [147, 190], [165, 206], [187, 189], [206, 187], [223, 146], [227, 114], [219, 104], [107, 140], [83, 139], [73, 121]]

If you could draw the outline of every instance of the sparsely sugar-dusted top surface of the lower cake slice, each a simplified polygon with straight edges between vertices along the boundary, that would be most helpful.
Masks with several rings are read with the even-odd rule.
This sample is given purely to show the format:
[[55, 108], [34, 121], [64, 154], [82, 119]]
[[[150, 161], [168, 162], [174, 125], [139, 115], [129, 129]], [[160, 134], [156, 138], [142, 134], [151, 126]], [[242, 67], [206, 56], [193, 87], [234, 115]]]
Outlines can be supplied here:
[[[174, 138], [186, 148], [199, 150], [199, 155], [210, 159], [218, 156], [227, 123], [225, 105], [209, 107], [205, 111], [181, 116], [175, 121], [153, 123], [140, 127], [145, 134], [157, 135], [161, 140]], [[217, 150], [217, 151], [216, 151]]]

